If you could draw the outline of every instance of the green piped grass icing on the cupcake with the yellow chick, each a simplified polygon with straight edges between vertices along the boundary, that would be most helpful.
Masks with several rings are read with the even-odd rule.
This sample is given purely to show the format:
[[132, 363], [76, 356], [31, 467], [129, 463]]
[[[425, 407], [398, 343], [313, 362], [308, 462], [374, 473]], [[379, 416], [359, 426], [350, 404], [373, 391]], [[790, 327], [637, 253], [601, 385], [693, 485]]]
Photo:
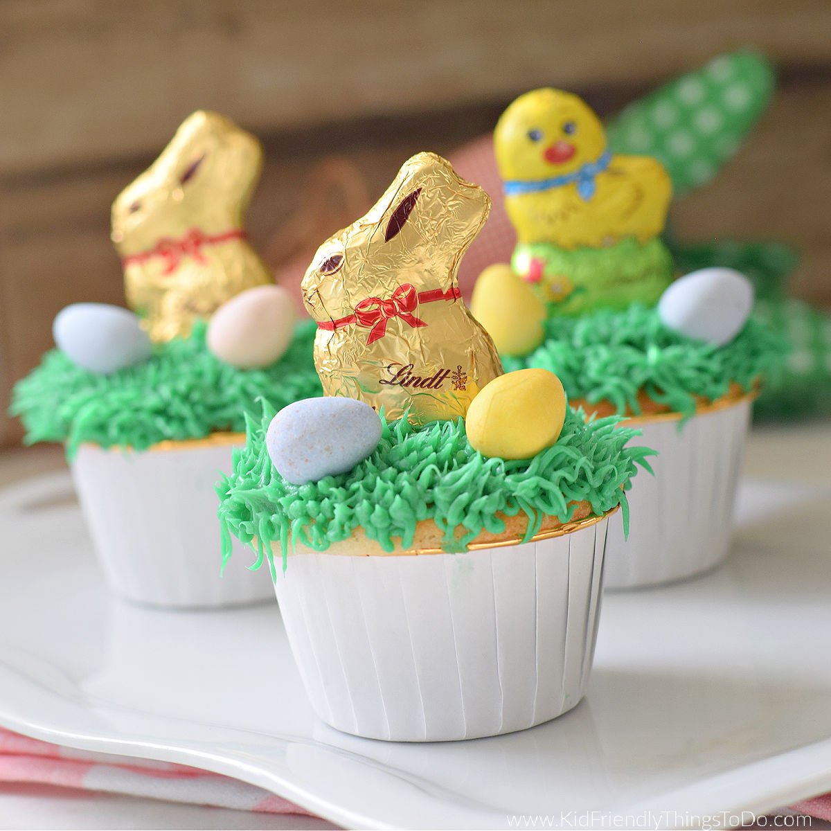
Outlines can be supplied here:
[[620, 414], [640, 413], [638, 391], [691, 416], [696, 397], [714, 401], [730, 383], [750, 391], [779, 366], [787, 343], [751, 317], [724, 347], [695, 341], [661, 323], [654, 308], [597, 310], [583, 317], [553, 317], [546, 340], [523, 357], [504, 357], [505, 371], [534, 366], [559, 376], [568, 397], [590, 404], [611, 401]]

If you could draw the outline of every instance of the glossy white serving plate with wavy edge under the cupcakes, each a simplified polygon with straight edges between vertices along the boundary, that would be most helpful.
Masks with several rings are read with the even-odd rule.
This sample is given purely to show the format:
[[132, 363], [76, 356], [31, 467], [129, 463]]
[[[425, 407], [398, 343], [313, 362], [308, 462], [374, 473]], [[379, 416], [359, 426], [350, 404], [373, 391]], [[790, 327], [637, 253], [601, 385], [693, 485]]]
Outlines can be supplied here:
[[229, 774], [361, 828], [505, 828], [519, 814], [624, 827], [602, 812], [678, 828], [765, 812], [831, 789], [829, 498], [828, 485], [744, 482], [725, 568], [605, 598], [575, 710], [406, 745], [315, 718], [275, 603], [111, 599], [68, 475], [29, 479], [0, 492], [0, 724]]

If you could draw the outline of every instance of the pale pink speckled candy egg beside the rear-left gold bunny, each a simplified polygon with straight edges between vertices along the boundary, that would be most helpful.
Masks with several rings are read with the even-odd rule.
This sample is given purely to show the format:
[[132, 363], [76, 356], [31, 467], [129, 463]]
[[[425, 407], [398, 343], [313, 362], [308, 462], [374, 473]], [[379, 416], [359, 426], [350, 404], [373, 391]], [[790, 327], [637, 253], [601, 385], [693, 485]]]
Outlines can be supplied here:
[[282, 286], [257, 286], [231, 297], [208, 324], [208, 348], [239, 369], [268, 366], [288, 349], [297, 320], [292, 295]]

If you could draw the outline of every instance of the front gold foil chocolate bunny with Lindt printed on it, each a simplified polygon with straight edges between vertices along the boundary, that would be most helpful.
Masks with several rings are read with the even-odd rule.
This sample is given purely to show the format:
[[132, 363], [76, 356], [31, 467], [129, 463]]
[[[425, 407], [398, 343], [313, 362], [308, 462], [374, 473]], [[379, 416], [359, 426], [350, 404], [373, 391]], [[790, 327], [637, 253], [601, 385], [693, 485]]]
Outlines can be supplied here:
[[302, 293], [317, 321], [314, 359], [327, 396], [425, 424], [464, 416], [502, 373], [456, 281], [489, 210], [478, 185], [420, 153], [366, 216], [322, 244]]

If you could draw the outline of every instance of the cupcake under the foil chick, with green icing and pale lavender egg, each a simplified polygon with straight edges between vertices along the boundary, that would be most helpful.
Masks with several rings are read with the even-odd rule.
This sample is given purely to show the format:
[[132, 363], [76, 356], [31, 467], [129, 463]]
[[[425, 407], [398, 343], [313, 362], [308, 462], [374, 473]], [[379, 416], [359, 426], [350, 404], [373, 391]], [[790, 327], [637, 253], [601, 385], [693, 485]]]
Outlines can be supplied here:
[[657, 307], [549, 317], [540, 346], [503, 357], [509, 370], [555, 372], [573, 406], [626, 416], [658, 451], [654, 478], [630, 494], [628, 540], [612, 521], [607, 588], [690, 577], [726, 557], [750, 406], [787, 348], [751, 304], [739, 273], [706, 269], [673, 283]]

